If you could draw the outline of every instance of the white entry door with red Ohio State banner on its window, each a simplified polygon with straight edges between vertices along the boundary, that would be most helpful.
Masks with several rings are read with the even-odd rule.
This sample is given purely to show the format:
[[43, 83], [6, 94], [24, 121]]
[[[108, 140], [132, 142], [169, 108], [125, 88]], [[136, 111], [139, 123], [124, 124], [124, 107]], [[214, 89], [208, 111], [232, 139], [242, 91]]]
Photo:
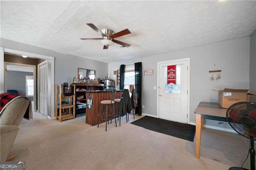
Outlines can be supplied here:
[[159, 118], [188, 123], [188, 60], [158, 66]]

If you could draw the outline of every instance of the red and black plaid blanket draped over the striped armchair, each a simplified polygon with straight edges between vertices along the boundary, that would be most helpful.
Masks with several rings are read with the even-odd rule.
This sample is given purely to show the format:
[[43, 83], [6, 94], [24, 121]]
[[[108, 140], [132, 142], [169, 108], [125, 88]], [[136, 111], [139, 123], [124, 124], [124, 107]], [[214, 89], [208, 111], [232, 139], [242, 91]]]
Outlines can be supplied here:
[[[26, 97], [25, 95], [22, 94], [16, 94], [16, 93], [1, 93], [0, 95], [0, 115], [2, 111], [8, 106], [9, 103], [11, 103], [13, 100], [15, 100], [18, 97]], [[28, 97], [26, 97], [29, 99]], [[29, 99], [30, 100], [30, 99]], [[29, 104], [29, 119], [33, 119], [33, 112], [32, 112], [32, 105], [31, 102]]]

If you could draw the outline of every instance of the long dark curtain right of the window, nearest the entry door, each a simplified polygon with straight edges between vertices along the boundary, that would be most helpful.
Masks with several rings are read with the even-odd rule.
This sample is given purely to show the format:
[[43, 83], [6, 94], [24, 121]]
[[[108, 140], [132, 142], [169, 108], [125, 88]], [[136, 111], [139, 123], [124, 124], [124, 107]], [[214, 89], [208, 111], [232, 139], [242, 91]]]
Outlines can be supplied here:
[[142, 63], [134, 63], [135, 70], [135, 90], [137, 94], [138, 107], [135, 109], [135, 114], [141, 115], [141, 70]]

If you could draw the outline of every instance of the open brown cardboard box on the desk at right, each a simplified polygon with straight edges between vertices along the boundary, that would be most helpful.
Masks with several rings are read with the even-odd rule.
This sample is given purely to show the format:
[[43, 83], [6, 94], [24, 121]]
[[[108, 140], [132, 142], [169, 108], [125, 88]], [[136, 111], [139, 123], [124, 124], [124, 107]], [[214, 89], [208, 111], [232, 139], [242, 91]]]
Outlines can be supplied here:
[[219, 92], [218, 103], [222, 108], [228, 108], [234, 103], [249, 101], [248, 95], [255, 95], [249, 93], [249, 90], [247, 89], [212, 90]]

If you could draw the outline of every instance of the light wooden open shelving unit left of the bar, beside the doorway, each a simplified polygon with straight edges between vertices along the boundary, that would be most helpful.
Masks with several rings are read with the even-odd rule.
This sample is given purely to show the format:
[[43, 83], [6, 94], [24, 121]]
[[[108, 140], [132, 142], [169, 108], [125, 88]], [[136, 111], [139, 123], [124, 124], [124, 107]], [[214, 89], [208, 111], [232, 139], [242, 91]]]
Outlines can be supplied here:
[[[75, 94], [76, 94], [76, 85], [70, 85], [73, 87], [73, 95], [63, 95], [63, 85], [56, 85], [56, 119], [59, 121], [64, 121], [67, 119], [75, 118]], [[68, 98], [68, 104], [62, 104], [62, 98]], [[72, 111], [73, 108], [73, 111]], [[68, 109], [68, 113], [63, 114], [62, 109]]]

